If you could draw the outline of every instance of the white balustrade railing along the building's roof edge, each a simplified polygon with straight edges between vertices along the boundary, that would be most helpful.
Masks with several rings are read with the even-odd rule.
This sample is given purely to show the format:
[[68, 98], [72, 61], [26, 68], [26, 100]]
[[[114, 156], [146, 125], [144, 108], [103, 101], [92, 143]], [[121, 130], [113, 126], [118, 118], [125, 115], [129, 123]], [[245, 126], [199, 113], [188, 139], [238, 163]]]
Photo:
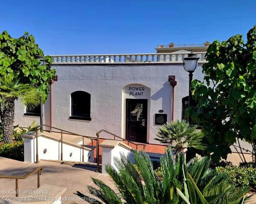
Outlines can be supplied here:
[[[114, 55], [52, 55], [54, 64], [79, 63], [182, 63], [188, 53], [114, 54]], [[199, 62], [205, 61], [205, 52], [195, 53]]]

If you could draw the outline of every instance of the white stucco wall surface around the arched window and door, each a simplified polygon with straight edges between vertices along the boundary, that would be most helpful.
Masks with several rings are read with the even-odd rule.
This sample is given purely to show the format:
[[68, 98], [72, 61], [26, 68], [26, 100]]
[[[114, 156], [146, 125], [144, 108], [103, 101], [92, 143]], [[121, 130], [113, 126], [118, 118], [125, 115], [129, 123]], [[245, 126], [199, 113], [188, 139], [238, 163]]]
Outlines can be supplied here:
[[[132, 98], [148, 99], [147, 142], [154, 140], [157, 128], [155, 114], [163, 110], [167, 121], [172, 117], [172, 86], [168, 75], [175, 75], [174, 118], [181, 119], [182, 98], [188, 95], [188, 72], [182, 64], [177, 65], [52, 65], [58, 81], [52, 86], [52, 125], [77, 134], [96, 136], [101, 129], [125, 138], [125, 98], [127, 85], [141, 85], [149, 94]], [[203, 80], [202, 66], [198, 65], [194, 78]], [[91, 94], [91, 121], [70, 119], [71, 93], [86, 91]], [[131, 98], [131, 97], [130, 97]], [[28, 126], [39, 117], [24, 116], [25, 107], [15, 104], [15, 123]], [[44, 105], [44, 124], [50, 124], [50, 99]]]

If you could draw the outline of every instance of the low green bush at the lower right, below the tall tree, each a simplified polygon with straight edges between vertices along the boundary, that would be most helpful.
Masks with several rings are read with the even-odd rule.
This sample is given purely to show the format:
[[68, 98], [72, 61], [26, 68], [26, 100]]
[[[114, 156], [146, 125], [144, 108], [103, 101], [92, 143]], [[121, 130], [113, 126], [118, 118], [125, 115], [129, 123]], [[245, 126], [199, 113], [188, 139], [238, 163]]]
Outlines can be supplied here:
[[256, 169], [238, 166], [217, 167], [219, 173], [226, 172], [230, 176], [230, 182], [237, 186], [249, 186], [253, 190], [256, 186]]

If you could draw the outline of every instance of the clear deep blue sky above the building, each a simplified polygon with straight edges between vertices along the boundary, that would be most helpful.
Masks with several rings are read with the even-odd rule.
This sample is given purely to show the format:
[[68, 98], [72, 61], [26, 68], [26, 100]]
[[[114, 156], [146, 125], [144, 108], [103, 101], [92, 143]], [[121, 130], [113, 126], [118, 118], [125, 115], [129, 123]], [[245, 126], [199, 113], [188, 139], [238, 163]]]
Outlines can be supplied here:
[[245, 37], [256, 1], [2, 1], [0, 15], [1, 32], [28, 31], [47, 55], [155, 53], [169, 42]]

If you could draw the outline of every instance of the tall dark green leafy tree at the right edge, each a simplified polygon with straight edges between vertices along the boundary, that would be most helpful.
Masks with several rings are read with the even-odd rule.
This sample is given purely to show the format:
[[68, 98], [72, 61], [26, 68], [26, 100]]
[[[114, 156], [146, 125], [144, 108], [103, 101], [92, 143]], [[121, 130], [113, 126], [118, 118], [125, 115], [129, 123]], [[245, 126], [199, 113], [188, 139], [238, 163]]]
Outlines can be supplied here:
[[204, 82], [193, 80], [191, 84], [198, 105], [187, 113], [202, 124], [206, 153], [213, 152], [213, 162], [226, 159], [237, 138], [252, 144], [256, 161], [255, 33], [256, 27], [248, 32], [246, 43], [242, 35], [212, 42], [205, 55]]

